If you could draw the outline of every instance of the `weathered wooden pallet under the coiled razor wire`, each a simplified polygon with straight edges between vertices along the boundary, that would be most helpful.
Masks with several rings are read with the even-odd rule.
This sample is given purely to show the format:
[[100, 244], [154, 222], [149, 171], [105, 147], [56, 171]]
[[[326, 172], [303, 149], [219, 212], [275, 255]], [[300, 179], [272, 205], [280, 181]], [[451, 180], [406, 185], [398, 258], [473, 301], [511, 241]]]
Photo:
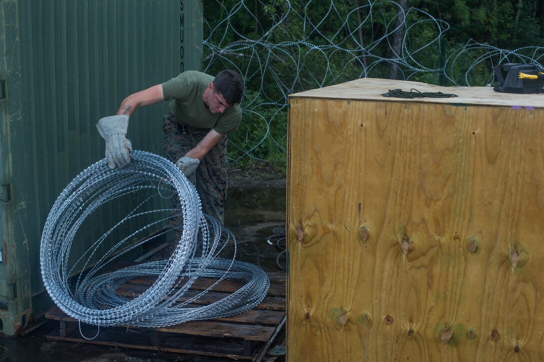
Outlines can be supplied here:
[[[150, 349], [164, 352], [191, 353], [230, 357], [234, 359], [260, 360], [265, 349], [285, 323], [286, 290], [284, 273], [267, 273], [270, 289], [261, 304], [253, 310], [231, 317], [205, 321], [190, 321], [175, 326], [141, 328], [133, 326], [102, 327], [81, 323], [67, 316], [58, 307], [47, 311], [46, 317], [58, 320], [59, 327], [47, 335], [48, 339], [84, 342], [88, 344]], [[186, 301], [201, 290], [208, 288], [216, 280], [199, 278], [178, 301]], [[130, 280], [118, 289], [120, 295], [137, 297], [143, 293], [154, 279], [141, 277]], [[211, 304], [238, 290], [242, 283], [238, 280], [222, 280], [212, 291], [196, 299], [188, 307]], [[81, 328], [81, 333], [79, 329]]]

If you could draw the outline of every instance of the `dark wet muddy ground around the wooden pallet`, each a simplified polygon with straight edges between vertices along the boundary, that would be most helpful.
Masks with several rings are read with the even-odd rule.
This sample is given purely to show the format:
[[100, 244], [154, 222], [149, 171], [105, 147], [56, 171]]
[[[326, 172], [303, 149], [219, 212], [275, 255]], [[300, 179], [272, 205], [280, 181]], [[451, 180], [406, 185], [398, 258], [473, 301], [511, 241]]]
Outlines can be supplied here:
[[[286, 189], [236, 188], [229, 190], [225, 204], [225, 226], [237, 240], [237, 260], [261, 266], [265, 271], [280, 271], [285, 267], [281, 253], [285, 230]], [[279, 246], [276, 246], [279, 244]], [[279, 259], [279, 260], [276, 260]], [[279, 264], [279, 265], [278, 265]], [[232, 361], [197, 355], [162, 353], [116, 347], [50, 341], [48, 331], [58, 326], [57, 321], [16, 338], [0, 338], [0, 362], [57, 362], [57, 361]]]

